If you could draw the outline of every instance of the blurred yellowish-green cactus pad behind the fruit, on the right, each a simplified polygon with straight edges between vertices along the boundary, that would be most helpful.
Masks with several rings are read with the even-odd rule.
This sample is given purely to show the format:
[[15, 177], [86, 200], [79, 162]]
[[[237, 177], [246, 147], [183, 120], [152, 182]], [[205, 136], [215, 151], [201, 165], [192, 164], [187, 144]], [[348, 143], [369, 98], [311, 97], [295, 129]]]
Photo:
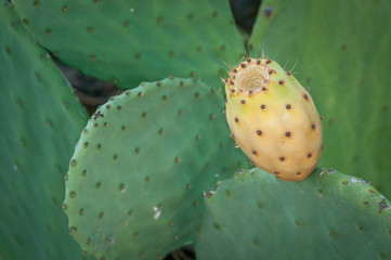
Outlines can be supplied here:
[[391, 1], [265, 0], [250, 39], [310, 89], [324, 116], [320, 166], [391, 197]]

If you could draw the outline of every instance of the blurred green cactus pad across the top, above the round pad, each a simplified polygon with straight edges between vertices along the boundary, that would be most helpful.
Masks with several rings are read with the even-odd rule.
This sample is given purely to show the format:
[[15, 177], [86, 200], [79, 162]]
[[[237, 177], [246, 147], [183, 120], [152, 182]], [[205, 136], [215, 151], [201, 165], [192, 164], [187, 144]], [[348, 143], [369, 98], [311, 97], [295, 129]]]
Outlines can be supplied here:
[[229, 2], [14, 0], [38, 42], [62, 62], [120, 88], [167, 75], [221, 86], [243, 55]]

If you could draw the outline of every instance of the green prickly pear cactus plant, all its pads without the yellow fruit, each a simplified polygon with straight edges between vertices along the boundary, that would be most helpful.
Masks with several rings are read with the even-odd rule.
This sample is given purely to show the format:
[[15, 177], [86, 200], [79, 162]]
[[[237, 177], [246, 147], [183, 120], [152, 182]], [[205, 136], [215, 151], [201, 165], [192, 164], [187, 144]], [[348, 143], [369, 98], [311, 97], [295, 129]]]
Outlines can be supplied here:
[[[0, 259], [161, 259], [193, 242], [197, 259], [389, 258], [390, 202], [361, 178], [390, 196], [390, 4], [265, 0], [247, 41], [225, 0], [3, 0]], [[264, 42], [279, 64], [300, 58], [325, 117], [320, 166], [357, 177], [234, 176], [248, 159], [219, 81], [244, 42], [255, 57]], [[126, 91], [87, 122], [52, 57]]]

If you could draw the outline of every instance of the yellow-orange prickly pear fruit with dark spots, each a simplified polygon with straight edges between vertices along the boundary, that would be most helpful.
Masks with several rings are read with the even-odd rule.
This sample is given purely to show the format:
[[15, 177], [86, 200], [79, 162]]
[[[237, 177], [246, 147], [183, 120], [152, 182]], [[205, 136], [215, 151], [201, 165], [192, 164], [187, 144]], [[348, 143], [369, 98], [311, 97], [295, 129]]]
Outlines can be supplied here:
[[323, 123], [310, 93], [269, 58], [242, 62], [224, 79], [226, 120], [257, 167], [284, 181], [302, 181], [323, 151]]

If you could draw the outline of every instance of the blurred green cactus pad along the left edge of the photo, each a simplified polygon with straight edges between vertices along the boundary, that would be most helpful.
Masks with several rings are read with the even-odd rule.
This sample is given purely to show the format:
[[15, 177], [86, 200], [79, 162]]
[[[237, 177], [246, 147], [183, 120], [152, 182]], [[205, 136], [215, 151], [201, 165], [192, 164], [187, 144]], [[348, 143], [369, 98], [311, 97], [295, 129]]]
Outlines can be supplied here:
[[61, 207], [63, 178], [87, 116], [18, 21], [1, 1], [0, 259], [81, 259]]

